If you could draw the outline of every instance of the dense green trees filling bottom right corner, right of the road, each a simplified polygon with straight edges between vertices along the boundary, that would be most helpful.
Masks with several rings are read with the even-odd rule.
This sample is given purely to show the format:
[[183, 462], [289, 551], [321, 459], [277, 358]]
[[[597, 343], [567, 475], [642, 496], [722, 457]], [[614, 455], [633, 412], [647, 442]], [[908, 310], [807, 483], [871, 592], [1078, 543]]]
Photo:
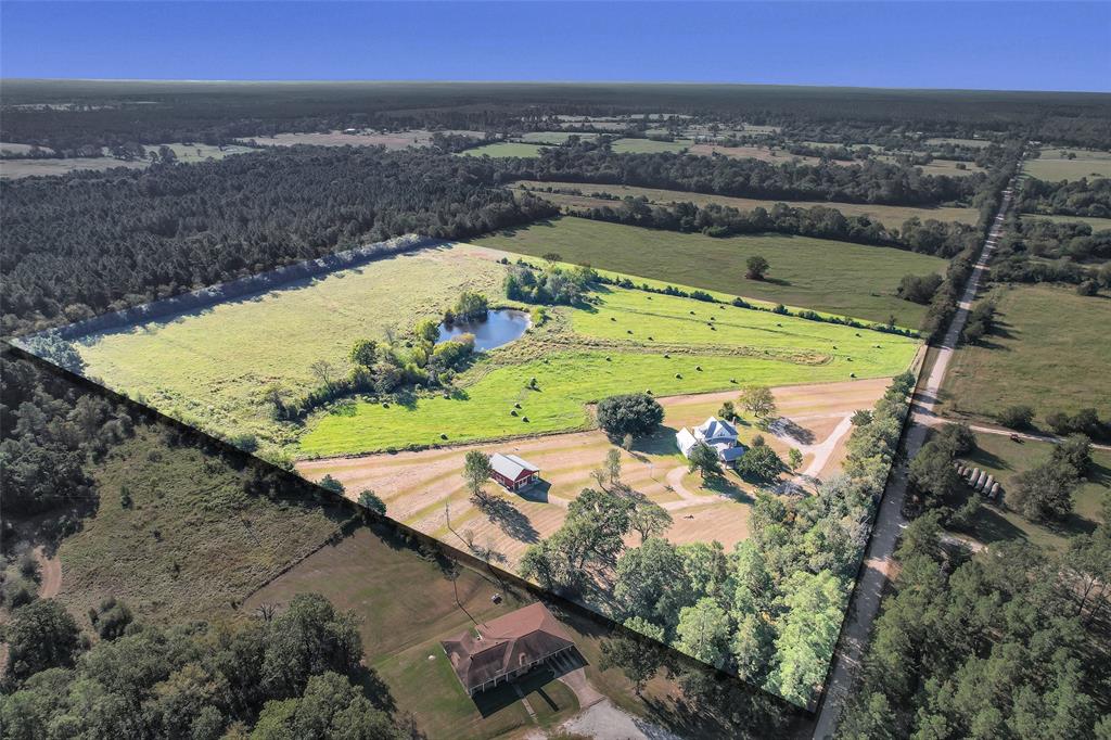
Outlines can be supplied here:
[[839, 737], [1111, 737], [1105, 523], [1062, 556], [1009, 543], [969, 558], [929, 513], [895, 558]]

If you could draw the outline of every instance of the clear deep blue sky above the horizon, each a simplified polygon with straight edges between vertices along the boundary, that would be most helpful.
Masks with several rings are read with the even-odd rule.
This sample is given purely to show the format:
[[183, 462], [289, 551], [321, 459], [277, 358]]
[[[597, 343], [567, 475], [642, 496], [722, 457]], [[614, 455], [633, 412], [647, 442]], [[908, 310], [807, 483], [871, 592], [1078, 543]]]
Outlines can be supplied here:
[[1111, 91], [1111, 3], [2, 0], [0, 76]]

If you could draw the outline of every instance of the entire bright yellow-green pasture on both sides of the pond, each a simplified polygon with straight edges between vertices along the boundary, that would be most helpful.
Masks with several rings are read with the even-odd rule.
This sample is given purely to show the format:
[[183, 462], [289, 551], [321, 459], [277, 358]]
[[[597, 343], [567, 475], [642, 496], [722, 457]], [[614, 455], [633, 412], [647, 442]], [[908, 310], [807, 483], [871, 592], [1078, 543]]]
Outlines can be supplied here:
[[404, 341], [416, 322], [440, 316], [464, 290], [497, 300], [508, 270], [497, 260], [506, 257], [466, 244], [424, 249], [101, 332], [78, 349], [88, 374], [112, 388], [211, 433], [251, 434], [264, 452], [300, 457], [584, 429], [587, 404], [620, 392], [890, 377], [917, 346], [841, 324], [603, 287], [592, 304], [556, 309], [543, 327], [479, 356], [448, 393], [391, 402], [354, 397], [303, 428], [272, 418], [262, 399], [268, 387], [308, 392], [320, 382], [320, 360], [342, 376], [356, 340]]

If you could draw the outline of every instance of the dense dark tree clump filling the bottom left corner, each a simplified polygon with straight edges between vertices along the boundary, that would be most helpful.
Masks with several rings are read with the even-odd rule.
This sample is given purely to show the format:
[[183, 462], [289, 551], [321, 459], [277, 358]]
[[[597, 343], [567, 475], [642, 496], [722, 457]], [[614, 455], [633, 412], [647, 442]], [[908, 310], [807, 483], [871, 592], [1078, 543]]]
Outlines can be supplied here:
[[13, 610], [6, 738], [411, 737], [361, 664], [354, 618], [323, 597], [301, 593], [280, 614], [223, 624], [142, 624], [114, 599], [88, 619], [91, 646], [57, 601]]

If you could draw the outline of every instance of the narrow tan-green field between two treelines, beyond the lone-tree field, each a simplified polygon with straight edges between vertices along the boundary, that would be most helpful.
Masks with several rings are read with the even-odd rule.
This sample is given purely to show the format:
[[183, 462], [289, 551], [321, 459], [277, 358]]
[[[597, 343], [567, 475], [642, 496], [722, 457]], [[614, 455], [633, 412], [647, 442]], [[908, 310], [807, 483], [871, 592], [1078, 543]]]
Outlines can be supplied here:
[[[974, 224], [980, 217], [979, 211], [973, 208], [912, 208], [909, 206], [872, 206], [865, 203], [841, 203], [837, 201], [820, 200], [761, 200], [758, 198], [730, 198], [729, 196], [714, 196], [699, 192], [687, 192], [684, 190], [661, 190], [658, 188], [638, 188], [634, 186], [621, 184], [588, 184], [581, 182], [541, 182], [539, 180], [521, 180], [514, 183], [516, 187], [529, 188], [536, 191], [537, 196], [552, 200], [559, 206], [571, 206], [574, 208], [617, 208], [620, 201], [601, 198], [590, 198], [593, 193], [609, 193], [624, 198], [647, 198], [650, 202], [668, 203], [694, 203], [695, 206], [707, 206], [718, 203], [720, 206], [731, 206], [741, 211], [751, 211], [754, 208], [771, 209], [775, 203], [785, 202], [792, 208], [835, 208], [845, 216], [867, 216], [879, 221], [891, 229], [899, 229], [903, 222], [912, 217], [918, 217], [925, 221], [934, 219], [937, 221], [958, 221], [960, 223]], [[557, 188], [562, 190], [578, 190], [582, 196], [570, 196], [564, 193], [543, 192], [543, 188]]]

